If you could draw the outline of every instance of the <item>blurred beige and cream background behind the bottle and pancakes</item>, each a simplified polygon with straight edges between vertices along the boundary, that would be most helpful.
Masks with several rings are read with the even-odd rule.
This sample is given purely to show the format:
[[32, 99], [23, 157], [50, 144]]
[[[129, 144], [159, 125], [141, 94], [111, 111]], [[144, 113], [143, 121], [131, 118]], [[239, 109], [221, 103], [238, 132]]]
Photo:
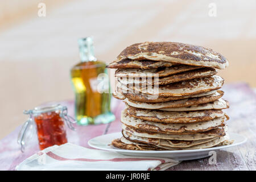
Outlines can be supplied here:
[[0, 139], [24, 109], [74, 98], [69, 69], [85, 36], [106, 63], [144, 41], [209, 47], [229, 60], [225, 84], [256, 87], [256, 1], [0, 0]]

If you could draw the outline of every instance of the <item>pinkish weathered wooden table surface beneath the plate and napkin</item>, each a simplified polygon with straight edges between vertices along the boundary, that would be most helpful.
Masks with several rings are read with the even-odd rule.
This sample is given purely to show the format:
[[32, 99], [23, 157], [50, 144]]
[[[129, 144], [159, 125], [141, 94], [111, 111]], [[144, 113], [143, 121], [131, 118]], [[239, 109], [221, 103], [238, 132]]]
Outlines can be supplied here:
[[[230, 102], [226, 109], [229, 115], [229, 131], [247, 138], [247, 142], [240, 146], [217, 151], [217, 164], [210, 165], [208, 158], [183, 161], [168, 170], [255, 170], [256, 169], [256, 94], [247, 84], [226, 84], [224, 98]], [[68, 106], [68, 113], [73, 115], [73, 101], [58, 102]], [[89, 147], [89, 139], [102, 134], [121, 131], [119, 121], [121, 110], [125, 105], [122, 101], [112, 100], [112, 111], [115, 121], [105, 125], [76, 126], [77, 131], [67, 130], [68, 142]], [[15, 166], [39, 151], [36, 136], [31, 140], [24, 153], [19, 151], [16, 143], [18, 127], [13, 133], [0, 140], [0, 170], [13, 170]]]

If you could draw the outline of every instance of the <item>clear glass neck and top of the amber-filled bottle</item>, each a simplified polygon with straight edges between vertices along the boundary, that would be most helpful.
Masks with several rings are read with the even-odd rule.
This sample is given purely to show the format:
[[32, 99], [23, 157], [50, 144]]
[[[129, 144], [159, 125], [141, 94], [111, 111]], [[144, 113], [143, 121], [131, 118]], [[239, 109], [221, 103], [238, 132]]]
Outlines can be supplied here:
[[79, 39], [79, 53], [82, 62], [96, 61], [92, 38]]

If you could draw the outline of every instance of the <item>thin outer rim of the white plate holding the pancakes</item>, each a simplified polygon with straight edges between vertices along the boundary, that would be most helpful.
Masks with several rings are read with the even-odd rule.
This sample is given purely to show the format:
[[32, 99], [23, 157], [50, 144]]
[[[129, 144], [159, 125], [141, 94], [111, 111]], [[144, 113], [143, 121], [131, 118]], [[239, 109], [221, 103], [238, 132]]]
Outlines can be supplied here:
[[238, 143], [229, 144], [229, 145], [226, 145], [226, 146], [218, 146], [218, 147], [210, 147], [210, 148], [199, 148], [199, 149], [191, 149], [191, 150], [164, 150], [164, 151], [143, 151], [143, 150], [125, 150], [125, 149], [121, 149], [121, 148], [120, 149], [118, 149], [118, 148], [102, 148], [102, 147], [94, 146], [91, 143], [92, 140], [97, 139], [97, 138], [101, 138], [103, 136], [120, 135], [120, 134], [121, 134], [121, 132], [115, 132], [115, 133], [100, 135], [100, 136], [97, 136], [97, 137], [94, 137], [94, 138], [88, 140], [87, 143], [92, 148], [97, 148], [97, 149], [106, 150], [106, 151], [127, 152], [127, 153], [132, 152], [132, 153], [144, 153], [144, 154], [165, 154], [165, 153], [175, 154], [175, 153], [193, 153], [193, 152], [204, 152], [204, 151], [210, 151], [210, 150], [220, 150], [222, 148], [235, 147], [235, 146], [243, 144], [247, 141], [247, 138], [245, 136], [241, 135], [241, 134], [228, 132], [229, 135], [238, 135], [239, 137], [242, 137], [243, 138], [242, 141], [238, 142]]

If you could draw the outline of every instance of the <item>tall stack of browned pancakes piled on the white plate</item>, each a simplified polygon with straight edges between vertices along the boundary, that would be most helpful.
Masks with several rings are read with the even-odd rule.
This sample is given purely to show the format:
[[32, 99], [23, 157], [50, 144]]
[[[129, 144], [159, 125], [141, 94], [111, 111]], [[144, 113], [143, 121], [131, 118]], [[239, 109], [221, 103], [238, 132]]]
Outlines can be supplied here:
[[229, 144], [228, 101], [217, 69], [228, 60], [212, 49], [174, 42], [144, 42], [124, 49], [115, 68], [113, 96], [126, 103], [122, 137], [127, 150], [190, 150]]

